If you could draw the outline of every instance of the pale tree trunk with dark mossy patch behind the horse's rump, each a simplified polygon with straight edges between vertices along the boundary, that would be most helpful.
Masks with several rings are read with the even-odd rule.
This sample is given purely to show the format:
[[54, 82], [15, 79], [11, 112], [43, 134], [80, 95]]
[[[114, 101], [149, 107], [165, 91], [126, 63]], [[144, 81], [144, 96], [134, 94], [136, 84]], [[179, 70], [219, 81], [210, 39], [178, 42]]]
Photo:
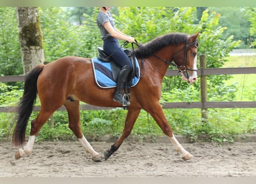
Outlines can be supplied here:
[[44, 62], [43, 35], [37, 7], [17, 7], [18, 34], [24, 74]]

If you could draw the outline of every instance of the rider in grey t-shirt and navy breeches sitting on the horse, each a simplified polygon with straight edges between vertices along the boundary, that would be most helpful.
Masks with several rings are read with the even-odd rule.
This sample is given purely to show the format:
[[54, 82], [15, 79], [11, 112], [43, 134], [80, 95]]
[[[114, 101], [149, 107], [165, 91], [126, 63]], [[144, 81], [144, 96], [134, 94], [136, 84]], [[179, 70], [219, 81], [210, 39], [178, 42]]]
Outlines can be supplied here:
[[104, 41], [104, 52], [111, 55], [111, 57], [121, 66], [121, 71], [117, 79], [116, 91], [113, 95], [113, 101], [117, 101], [124, 106], [128, 106], [130, 102], [123, 98], [122, 90], [125, 80], [132, 69], [132, 64], [123, 49], [120, 49], [118, 40], [126, 40], [133, 43], [135, 39], [116, 29], [113, 17], [108, 10], [110, 10], [110, 6], [100, 7], [97, 17], [97, 24], [98, 28], [100, 28], [101, 39]]

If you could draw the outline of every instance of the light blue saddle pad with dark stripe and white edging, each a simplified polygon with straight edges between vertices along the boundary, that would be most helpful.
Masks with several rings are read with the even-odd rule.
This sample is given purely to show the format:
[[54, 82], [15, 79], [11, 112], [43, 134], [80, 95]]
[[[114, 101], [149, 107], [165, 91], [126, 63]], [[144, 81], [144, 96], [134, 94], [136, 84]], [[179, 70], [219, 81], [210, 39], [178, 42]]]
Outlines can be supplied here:
[[[132, 79], [132, 86], [134, 87], [139, 82], [140, 76], [140, 67], [136, 60], [136, 74], [135, 77]], [[112, 68], [110, 63], [101, 62], [97, 57], [91, 58], [91, 63], [93, 63], [93, 71], [94, 71], [94, 78], [95, 82], [99, 87], [102, 88], [112, 88], [116, 87], [116, 82], [114, 81], [112, 75]]]

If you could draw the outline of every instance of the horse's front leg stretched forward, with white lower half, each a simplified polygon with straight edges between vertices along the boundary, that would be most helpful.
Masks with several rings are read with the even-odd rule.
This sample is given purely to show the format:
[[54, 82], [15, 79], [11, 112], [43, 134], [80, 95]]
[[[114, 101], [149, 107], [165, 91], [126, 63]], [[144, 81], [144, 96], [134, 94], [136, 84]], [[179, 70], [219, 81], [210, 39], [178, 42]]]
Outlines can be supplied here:
[[154, 118], [156, 123], [162, 129], [163, 133], [165, 133], [165, 135], [169, 137], [171, 143], [173, 143], [175, 150], [179, 152], [179, 154], [181, 155], [181, 158], [184, 160], [192, 159], [193, 155], [191, 155], [188, 151], [186, 151], [182, 147], [182, 145], [179, 144], [178, 140], [173, 135], [173, 131], [166, 120], [166, 117], [165, 117], [165, 114], [163, 113], [163, 109], [161, 105], [159, 103], [152, 105], [152, 108], [147, 109], [146, 111], [151, 114], [151, 116]]

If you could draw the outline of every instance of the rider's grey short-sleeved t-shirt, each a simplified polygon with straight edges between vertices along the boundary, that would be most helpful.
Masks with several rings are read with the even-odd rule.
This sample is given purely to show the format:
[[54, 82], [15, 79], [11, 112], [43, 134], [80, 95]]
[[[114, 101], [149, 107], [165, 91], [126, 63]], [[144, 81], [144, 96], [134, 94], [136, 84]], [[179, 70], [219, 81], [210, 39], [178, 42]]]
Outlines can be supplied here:
[[99, 11], [98, 17], [97, 17], [97, 25], [98, 25], [98, 28], [100, 28], [102, 40], [105, 40], [106, 38], [110, 37], [109, 32], [104, 28], [105, 22], [110, 22], [112, 27], [115, 28], [114, 19], [112, 15], [109, 12], [108, 14], [105, 14], [102, 11]]

